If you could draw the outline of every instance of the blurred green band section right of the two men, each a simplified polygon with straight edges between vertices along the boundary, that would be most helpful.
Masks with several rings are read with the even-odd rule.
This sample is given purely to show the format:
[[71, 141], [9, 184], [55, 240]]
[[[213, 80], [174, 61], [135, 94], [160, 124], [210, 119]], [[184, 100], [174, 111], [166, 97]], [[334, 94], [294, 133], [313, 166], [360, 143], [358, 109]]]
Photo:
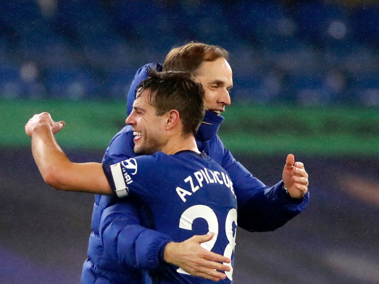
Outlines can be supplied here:
[[224, 144], [247, 153], [379, 155], [379, 109], [234, 106], [219, 131]]

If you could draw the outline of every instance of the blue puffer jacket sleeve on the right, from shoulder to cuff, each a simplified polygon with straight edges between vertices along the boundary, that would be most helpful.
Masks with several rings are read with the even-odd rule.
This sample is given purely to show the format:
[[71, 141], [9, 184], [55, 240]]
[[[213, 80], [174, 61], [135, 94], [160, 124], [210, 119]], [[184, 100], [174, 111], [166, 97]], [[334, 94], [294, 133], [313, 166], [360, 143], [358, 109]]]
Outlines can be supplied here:
[[286, 195], [282, 181], [268, 187], [236, 161], [217, 135], [212, 143], [210, 148], [217, 149], [217, 155], [222, 157], [221, 166], [233, 181], [241, 228], [250, 232], [274, 231], [308, 206], [309, 192], [294, 202]]

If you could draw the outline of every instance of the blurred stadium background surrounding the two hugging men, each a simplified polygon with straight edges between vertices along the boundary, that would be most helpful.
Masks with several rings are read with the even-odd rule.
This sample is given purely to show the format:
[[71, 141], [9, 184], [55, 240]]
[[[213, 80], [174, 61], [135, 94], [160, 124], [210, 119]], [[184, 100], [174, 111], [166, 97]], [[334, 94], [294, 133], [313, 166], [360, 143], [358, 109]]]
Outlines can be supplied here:
[[230, 52], [220, 136], [267, 184], [293, 152], [309, 208], [238, 231], [236, 284], [379, 283], [377, 1], [0, 2], [0, 283], [78, 283], [93, 196], [44, 184], [23, 126], [49, 111], [76, 162], [100, 161], [138, 67], [188, 41]]

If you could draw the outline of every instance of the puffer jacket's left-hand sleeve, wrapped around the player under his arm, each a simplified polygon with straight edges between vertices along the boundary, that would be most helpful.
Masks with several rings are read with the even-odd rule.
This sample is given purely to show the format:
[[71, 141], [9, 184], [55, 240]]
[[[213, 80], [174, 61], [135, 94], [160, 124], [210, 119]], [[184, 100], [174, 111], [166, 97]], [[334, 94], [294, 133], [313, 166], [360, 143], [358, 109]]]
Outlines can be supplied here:
[[[105, 151], [102, 163], [107, 178], [110, 165], [136, 157], [133, 134], [128, 127], [116, 134]], [[116, 262], [149, 270], [165, 264], [164, 247], [172, 239], [152, 230], [151, 224], [149, 229], [145, 228], [147, 225], [140, 218], [141, 207], [135, 198], [118, 199], [102, 212], [99, 233], [104, 249]]]

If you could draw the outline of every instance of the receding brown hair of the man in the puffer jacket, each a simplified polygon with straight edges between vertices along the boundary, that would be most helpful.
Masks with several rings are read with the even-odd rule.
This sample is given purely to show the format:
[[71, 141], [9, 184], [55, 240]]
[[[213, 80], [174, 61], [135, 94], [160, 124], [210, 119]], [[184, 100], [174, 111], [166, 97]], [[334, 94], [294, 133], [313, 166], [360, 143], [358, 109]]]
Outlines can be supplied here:
[[196, 77], [197, 71], [204, 61], [215, 61], [229, 57], [229, 53], [219, 46], [201, 42], [189, 42], [184, 46], [170, 50], [163, 63], [163, 71], [183, 71]]

